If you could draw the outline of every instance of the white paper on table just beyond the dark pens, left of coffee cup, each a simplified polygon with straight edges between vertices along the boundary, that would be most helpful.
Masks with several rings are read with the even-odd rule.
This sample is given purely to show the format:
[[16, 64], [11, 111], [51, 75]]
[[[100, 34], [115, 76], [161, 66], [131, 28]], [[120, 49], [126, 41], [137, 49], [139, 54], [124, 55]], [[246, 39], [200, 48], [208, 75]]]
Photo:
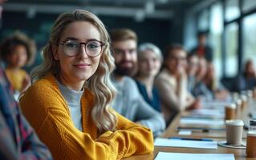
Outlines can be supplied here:
[[195, 124], [195, 125], [211, 125], [223, 126], [225, 123], [223, 119], [209, 119], [209, 118], [181, 118], [181, 124]]

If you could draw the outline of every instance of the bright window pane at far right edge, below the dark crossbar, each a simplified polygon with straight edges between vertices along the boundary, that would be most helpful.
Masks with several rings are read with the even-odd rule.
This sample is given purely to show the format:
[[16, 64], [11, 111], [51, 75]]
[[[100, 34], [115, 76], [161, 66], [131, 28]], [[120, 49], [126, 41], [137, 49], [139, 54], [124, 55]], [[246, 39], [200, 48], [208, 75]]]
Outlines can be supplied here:
[[[243, 60], [253, 59], [256, 62], [256, 14], [246, 16], [243, 21]], [[243, 62], [243, 64], [244, 64]]]

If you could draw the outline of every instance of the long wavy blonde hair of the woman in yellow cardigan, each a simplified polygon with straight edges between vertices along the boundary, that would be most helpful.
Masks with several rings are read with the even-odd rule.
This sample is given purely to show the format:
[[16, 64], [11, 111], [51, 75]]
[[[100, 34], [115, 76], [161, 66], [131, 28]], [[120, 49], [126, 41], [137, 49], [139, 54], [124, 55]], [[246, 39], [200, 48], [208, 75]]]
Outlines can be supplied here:
[[[51, 73], [59, 74], [59, 61], [56, 61], [52, 51], [52, 46], [59, 42], [63, 31], [72, 22], [83, 21], [91, 22], [99, 31], [102, 42], [105, 42], [104, 49], [101, 53], [100, 63], [95, 74], [91, 76], [84, 84], [91, 90], [95, 97], [95, 104], [91, 111], [91, 117], [95, 122], [100, 133], [106, 130], [116, 129], [116, 115], [109, 110], [109, 105], [116, 95], [116, 90], [112, 86], [111, 74], [115, 69], [114, 58], [110, 51], [110, 38], [103, 22], [86, 10], [74, 10], [71, 13], [64, 13], [57, 18], [54, 26], [51, 28], [51, 38], [43, 48], [43, 63], [32, 70], [32, 82], [43, 78], [45, 75]], [[86, 29], [85, 29], [86, 30]]]

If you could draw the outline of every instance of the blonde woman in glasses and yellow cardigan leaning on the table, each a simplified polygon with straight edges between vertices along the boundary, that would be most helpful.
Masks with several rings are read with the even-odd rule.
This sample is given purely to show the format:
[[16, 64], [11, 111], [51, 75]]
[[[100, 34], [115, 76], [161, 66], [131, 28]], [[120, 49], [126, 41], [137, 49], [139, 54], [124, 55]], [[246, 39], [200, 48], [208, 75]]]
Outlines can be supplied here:
[[112, 110], [108, 32], [85, 10], [61, 14], [20, 98], [22, 113], [55, 159], [120, 159], [153, 150], [152, 132]]

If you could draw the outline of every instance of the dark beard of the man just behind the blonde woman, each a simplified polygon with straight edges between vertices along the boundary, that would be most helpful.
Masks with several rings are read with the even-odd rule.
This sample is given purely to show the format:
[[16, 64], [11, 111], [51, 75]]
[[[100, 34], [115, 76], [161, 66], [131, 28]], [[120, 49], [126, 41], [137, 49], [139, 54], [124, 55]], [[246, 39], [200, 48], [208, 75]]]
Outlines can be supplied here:
[[136, 63], [132, 62], [132, 67], [121, 66], [122, 62], [116, 64], [116, 70], [114, 73], [119, 76], [133, 77], [136, 74]]

